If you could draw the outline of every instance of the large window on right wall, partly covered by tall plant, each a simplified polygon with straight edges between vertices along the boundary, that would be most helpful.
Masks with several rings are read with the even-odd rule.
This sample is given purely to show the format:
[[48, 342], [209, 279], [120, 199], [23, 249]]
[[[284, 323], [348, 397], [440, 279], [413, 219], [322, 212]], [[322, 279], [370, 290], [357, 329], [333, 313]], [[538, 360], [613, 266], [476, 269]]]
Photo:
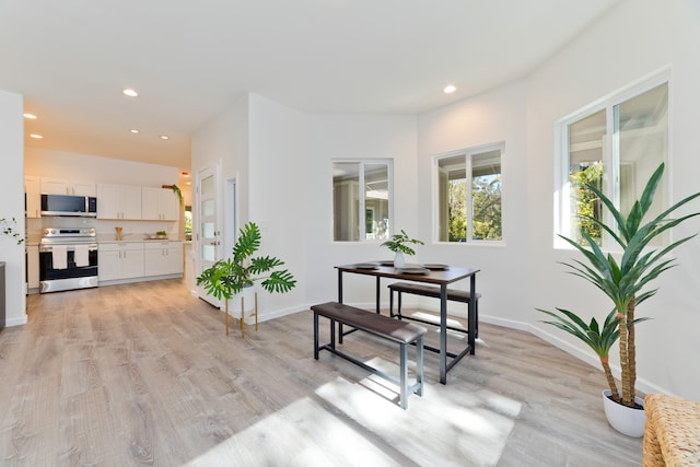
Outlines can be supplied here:
[[[593, 185], [627, 215], [658, 164], [668, 161], [668, 82], [655, 77], [605, 100], [560, 124], [564, 164], [561, 174], [560, 232], [585, 244], [582, 232], [603, 247], [609, 238], [593, 217], [611, 223]], [[664, 178], [650, 215], [668, 207]], [[667, 238], [662, 238], [667, 241]]]

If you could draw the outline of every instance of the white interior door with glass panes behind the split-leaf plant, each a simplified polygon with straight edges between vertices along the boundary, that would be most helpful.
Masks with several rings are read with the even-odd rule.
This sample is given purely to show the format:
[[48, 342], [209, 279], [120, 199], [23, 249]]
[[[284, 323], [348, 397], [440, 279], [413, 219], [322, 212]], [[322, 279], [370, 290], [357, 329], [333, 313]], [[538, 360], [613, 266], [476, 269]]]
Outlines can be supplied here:
[[[215, 167], [209, 166], [197, 172], [197, 277], [222, 257], [217, 167], [218, 165]], [[197, 294], [202, 300], [220, 307], [220, 301], [207, 295], [205, 289], [199, 285], [197, 285]]]

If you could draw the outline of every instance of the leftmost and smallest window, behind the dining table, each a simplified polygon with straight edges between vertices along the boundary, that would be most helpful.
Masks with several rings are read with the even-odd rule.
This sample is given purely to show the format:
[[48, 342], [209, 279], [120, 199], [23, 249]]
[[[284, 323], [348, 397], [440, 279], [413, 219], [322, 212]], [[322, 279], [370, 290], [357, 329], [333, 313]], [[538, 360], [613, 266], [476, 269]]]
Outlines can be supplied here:
[[332, 238], [361, 242], [389, 237], [390, 161], [337, 161], [332, 164]]

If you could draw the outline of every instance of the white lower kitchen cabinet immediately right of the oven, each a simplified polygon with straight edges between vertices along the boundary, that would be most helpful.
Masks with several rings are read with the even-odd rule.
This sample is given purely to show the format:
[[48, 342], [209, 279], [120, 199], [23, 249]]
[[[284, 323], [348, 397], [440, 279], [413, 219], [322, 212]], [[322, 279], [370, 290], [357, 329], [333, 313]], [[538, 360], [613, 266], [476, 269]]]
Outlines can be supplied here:
[[104, 243], [98, 252], [100, 281], [133, 279], [144, 276], [143, 243]]

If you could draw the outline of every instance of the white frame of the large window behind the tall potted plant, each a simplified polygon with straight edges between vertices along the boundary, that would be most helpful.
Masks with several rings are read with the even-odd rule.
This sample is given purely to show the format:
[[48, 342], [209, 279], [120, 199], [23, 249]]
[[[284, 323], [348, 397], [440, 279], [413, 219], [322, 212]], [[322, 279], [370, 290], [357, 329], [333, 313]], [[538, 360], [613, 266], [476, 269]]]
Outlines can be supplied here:
[[[573, 248], [565, 241], [559, 237], [559, 234], [568, 237], [572, 236], [571, 222], [569, 218], [571, 201], [571, 185], [569, 180], [569, 126], [600, 110], [605, 110], [607, 128], [605, 141], [606, 150], [604, 151], [603, 163], [607, 168], [604, 172], [603, 183], [606, 184], [605, 191], [609, 194], [608, 197], [610, 198], [610, 200], [615, 203], [615, 206], [619, 207], [620, 186], [618, 179], [620, 166], [620, 145], [619, 138], [615, 133], [615, 107], [664, 83], [666, 83], [668, 86], [668, 161], [666, 161], [666, 170], [667, 173], [669, 173], [668, 165], [670, 164], [672, 154], [672, 81], [669, 67], [650, 73], [649, 75], [637, 80], [633, 83], [618, 91], [615, 91], [555, 122], [555, 187], [557, 188], [557, 192], [555, 194], [555, 248]], [[667, 185], [667, 189], [670, 190], [670, 183]], [[605, 222], [608, 224], [612, 222], [611, 214], [607, 209], [605, 210]], [[618, 250], [619, 247], [610, 242], [609, 234], [604, 233], [602, 249], [615, 252]]]

